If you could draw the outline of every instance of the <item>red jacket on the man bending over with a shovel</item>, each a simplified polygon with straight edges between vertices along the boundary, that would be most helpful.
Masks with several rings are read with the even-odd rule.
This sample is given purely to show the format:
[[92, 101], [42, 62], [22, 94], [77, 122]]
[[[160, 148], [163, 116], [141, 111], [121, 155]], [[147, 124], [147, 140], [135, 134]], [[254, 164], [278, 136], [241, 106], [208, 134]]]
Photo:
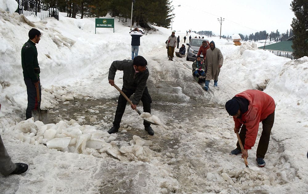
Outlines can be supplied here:
[[248, 111], [242, 114], [241, 119], [234, 119], [235, 128], [246, 126], [244, 149], [250, 150], [257, 139], [259, 123], [275, 111], [274, 99], [259, 90], [246, 90], [235, 96], [243, 97], [249, 101]]

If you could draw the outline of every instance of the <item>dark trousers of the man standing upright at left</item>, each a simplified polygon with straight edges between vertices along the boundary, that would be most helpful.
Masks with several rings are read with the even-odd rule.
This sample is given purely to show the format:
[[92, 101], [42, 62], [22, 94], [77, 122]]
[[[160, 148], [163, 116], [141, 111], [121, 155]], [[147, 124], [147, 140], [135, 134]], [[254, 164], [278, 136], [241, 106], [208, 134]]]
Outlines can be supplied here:
[[[41, 106], [41, 100], [40, 103], [38, 103], [37, 95], [36, 95], [36, 88], [34, 83], [30, 78], [24, 79], [26, 87], [27, 87], [27, 95], [28, 95], [28, 106], [26, 109], [26, 119], [29, 119], [32, 117], [32, 110], [37, 110]], [[39, 98], [41, 99], [41, 84], [39, 84]]]

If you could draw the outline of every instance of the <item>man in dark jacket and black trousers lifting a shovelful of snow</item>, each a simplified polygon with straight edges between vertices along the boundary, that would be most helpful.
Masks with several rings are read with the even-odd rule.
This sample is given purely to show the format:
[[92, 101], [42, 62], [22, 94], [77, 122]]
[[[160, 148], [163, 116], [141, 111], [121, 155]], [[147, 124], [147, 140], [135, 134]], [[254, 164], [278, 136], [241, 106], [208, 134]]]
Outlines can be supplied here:
[[[142, 56], [136, 56], [134, 60], [114, 61], [109, 68], [108, 80], [111, 86], [114, 84], [115, 72], [117, 70], [123, 71], [123, 87], [122, 91], [129, 98], [132, 94], [133, 105], [132, 109], [135, 110], [139, 101], [142, 101], [143, 111], [151, 113], [152, 99], [148, 92], [147, 80], [149, 71], [147, 68], [147, 60]], [[118, 99], [118, 106], [115, 111], [115, 119], [113, 127], [108, 131], [109, 134], [119, 131], [122, 116], [125, 111], [127, 100], [120, 94]], [[148, 131], [149, 135], [154, 135], [154, 131], [150, 123], [144, 121], [144, 129]]]

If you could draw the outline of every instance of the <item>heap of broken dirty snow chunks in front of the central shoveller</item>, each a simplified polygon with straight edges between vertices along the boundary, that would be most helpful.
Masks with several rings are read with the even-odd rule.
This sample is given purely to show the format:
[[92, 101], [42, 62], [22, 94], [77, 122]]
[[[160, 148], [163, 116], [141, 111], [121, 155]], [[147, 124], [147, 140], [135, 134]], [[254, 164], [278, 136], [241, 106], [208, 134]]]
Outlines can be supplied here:
[[33, 145], [43, 144], [49, 149], [62, 152], [91, 154], [96, 157], [108, 155], [128, 162], [132, 160], [150, 161], [152, 150], [151, 140], [144, 140], [137, 135], [119, 149], [115, 142], [117, 134], [109, 134], [90, 125], [80, 126], [75, 120], [63, 120], [56, 124], [44, 125], [40, 121], [28, 119], [19, 122], [15, 128], [15, 138], [19, 141]]

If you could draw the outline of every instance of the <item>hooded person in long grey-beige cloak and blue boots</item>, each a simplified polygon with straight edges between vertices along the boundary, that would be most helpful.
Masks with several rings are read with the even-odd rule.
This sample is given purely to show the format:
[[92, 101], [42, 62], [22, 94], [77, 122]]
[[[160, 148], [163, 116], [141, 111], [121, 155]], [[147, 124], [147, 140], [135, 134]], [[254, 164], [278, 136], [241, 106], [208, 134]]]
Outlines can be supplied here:
[[205, 78], [205, 91], [209, 90], [209, 83], [214, 79], [214, 87], [217, 87], [220, 68], [224, 62], [221, 51], [215, 47], [214, 41], [210, 42], [210, 49], [206, 50], [205, 67], [207, 68]]

